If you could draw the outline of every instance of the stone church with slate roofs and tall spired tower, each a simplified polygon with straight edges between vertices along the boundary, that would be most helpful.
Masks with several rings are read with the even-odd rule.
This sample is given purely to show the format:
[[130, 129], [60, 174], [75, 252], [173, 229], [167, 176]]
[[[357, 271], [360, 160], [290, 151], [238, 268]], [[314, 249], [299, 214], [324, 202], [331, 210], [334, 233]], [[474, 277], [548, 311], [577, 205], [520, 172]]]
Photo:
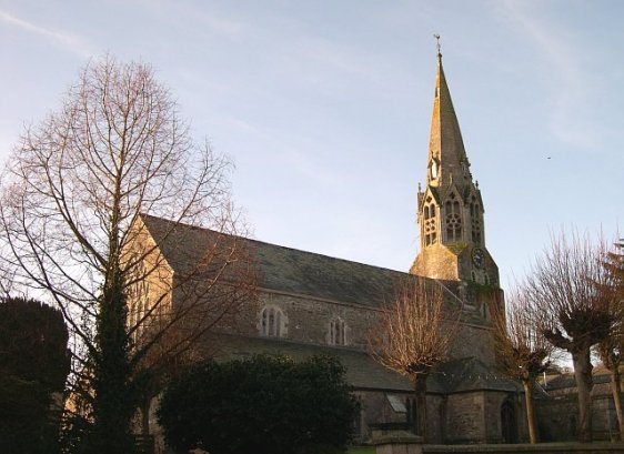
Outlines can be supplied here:
[[[355, 426], [365, 442], [375, 427], [406, 423], [415, 414], [413, 384], [373, 361], [366, 353], [368, 332], [399, 282], [410, 274], [427, 278], [441, 286], [446, 303], [461, 311], [450, 359], [427, 381], [427, 442], [525, 440], [520, 389], [494, 367], [491, 311], [504, 305], [503, 292], [485, 241], [481, 190], [471, 172], [440, 53], [423, 171], [426, 183], [417, 193], [420, 251], [409, 273], [244, 240], [260, 269], [258, 303], [246, 322], [222, 330], [218, 355], [338, 356], [361, 402]], [[178, 225], [161, 244], [170, 222], [144, 215], [142, 223], [159, 244], [170, 278], [207, 249], [214, 234]], [[172, 304], [181, 303], [180, 294], [170, 297]]]

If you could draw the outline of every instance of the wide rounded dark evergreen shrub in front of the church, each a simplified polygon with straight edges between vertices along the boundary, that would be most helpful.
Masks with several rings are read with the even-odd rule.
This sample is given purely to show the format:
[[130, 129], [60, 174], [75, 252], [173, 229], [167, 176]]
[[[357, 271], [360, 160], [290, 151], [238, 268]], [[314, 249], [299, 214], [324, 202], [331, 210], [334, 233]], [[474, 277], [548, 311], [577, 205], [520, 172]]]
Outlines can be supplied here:
[[168, 386], [158, 417], [181, 452], [294, 454], [344, 451], [356, 410], [336, 359], [256, 355], [197, 365]]

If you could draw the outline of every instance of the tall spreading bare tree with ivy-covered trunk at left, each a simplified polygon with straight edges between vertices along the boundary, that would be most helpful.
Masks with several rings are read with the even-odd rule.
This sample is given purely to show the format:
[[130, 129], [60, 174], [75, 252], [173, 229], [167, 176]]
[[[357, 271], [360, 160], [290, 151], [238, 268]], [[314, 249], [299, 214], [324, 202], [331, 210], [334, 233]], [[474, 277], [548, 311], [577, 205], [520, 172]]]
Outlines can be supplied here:
[[[1, 181], [2, 269], [70, 326], [87, 452], [131, 452], [140, 372], [158, 363], [147, 359], [174, 357], [248, 301], [254, 266], [236, 235], [230, 169], [191, 139], [149, 67], [110, 57], [88, 64], [14, 149]], [[151, 235], [142, 213], [170, 222]], [[162, 250], [187, 224], [217, 232], [173, 279]], [[175, 342], [153, 354], [173, 329]]]

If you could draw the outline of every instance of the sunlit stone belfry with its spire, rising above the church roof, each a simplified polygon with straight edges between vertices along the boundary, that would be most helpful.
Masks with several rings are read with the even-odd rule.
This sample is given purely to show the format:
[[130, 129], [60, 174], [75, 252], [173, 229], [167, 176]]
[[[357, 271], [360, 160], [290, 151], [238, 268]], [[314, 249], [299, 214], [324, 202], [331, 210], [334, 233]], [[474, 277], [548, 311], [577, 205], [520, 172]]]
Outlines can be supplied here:
[[485, 246], [483, 213], [439, 44], [425, 188], [419, 184], [417, 194], [421, 241], [410, 272], [497, 287], [499, 268]]

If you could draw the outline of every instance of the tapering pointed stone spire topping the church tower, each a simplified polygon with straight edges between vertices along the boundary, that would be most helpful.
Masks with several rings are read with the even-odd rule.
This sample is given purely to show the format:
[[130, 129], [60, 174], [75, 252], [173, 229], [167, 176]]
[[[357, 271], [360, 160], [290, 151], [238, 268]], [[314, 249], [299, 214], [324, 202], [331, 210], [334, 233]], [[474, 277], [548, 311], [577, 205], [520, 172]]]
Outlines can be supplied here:
[[452, 181], [455, 183], [470, 182], [472, 176], [460, 123], [442, 67], [440, 36], [434, 37], [437, 40], [437, 73], [431, 118], [426, 182], [432, 186], [441, 186], [449, 185]]

